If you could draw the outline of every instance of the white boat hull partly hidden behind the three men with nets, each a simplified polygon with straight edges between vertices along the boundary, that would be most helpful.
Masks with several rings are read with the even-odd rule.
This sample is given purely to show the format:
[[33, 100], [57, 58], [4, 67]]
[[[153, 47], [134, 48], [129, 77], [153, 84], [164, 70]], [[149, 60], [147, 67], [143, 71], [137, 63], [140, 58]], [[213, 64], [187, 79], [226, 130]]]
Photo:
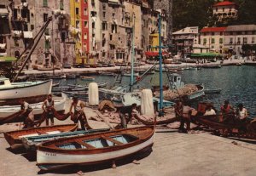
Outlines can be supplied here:
[[[54, 99], [55, 102], [55, 111], [57, 112], [63, 112], [65, 111], [65, 103], [66, 103], [67, 97], [63, 96], [62, 99]], [[36, 103], [36, 104], [30, 104], [33, 109], [33, 114], [35, 116], [39, 116], [43, 114], [42, 105], [44, 102]], [[6, 120], [8, 116], [11, 116], [15, 113], [20, 111], [20, 105], [3, 105], [0, 106], [0, 124]], [[14, 122], [17, 122], [16, 119], [13, 120]]]

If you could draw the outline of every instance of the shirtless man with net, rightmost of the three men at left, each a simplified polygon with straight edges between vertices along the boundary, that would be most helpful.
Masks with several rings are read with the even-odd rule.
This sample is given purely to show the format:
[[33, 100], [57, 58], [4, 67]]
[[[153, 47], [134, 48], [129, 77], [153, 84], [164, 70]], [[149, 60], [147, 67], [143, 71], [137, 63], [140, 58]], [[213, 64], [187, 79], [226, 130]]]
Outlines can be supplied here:
[[87, 122], [84, 114], [84, 107], [84, 101], [79, 100], [77, 97], [73, 97], [73, 102], [69, 108], [70, 114], [72, 114], [72, 109], [74, 111], [73, 116], [71, 116], [71, 120], [73, 120], [74, 123], [80, 122], [82, 130], [85, 130], [85, 122]]

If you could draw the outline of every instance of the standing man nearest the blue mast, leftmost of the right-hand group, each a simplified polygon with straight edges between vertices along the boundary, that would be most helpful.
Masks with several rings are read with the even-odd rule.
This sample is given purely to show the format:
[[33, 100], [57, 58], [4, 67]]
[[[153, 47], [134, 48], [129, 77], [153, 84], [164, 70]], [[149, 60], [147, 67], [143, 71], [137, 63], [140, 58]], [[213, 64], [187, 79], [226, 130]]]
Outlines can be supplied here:
[[[190, 122], [191, 122], [191, 113], [194, 110], [194, 108], [189, 106], [188, 102], [183, 103], [183, 116], [180, 121], [180, 127], [178, 132], [179, 133], [188, 133], [190, 130]], [[186, 122], [187, 128], [184, 128], [184, 123]]]

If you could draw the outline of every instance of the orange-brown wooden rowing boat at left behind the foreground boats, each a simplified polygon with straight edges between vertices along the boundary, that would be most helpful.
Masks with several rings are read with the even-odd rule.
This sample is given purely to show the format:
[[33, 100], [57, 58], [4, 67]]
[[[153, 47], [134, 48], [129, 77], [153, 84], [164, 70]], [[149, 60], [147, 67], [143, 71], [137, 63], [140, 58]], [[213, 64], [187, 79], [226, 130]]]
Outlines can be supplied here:
[[54, 134], [74, 131], [78, 128], [78, 124], [55, 125], [51, 127], [28, 128], [17, 131], [10, 131], [4, 134], [4, 138], [12, 149], [22, 146], [22, 138], [39, 136], [42, 134]]

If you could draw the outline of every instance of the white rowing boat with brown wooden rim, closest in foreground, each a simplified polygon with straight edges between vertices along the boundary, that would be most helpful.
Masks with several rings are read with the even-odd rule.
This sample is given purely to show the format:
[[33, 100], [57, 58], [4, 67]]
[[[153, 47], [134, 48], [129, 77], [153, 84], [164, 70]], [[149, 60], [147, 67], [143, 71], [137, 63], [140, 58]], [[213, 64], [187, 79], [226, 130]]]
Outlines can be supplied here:
[[153, 126], [56, 139], [38, 145], [37, 165], [42, 170], [53, 170], [110, 162], [132, 156], [153, 144]]

